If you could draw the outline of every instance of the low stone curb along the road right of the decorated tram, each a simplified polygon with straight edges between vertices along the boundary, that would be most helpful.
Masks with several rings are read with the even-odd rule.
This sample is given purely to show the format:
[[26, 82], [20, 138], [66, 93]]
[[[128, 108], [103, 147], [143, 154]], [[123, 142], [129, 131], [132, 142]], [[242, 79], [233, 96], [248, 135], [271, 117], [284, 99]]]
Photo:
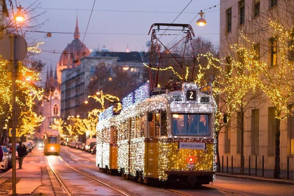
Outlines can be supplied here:
[[260, 182], [270, 182], [270, 183], [276, 183], [276, 184], [294, 185], [294, 181], [290, 181], [290, 180], [268, 179], [268, 178], [250, 177], [250, 176], [244, 176], [244, 175], [231, 175], [231, 174], [223, 174], [223, 173], [219, 173], [219, 172], [216, 172], [216, 175], [222, 176], [222, 177], [233, 177], [233, 178], [239, 178], [239, 179], [255, 180], [255, 181], [260, 181]]

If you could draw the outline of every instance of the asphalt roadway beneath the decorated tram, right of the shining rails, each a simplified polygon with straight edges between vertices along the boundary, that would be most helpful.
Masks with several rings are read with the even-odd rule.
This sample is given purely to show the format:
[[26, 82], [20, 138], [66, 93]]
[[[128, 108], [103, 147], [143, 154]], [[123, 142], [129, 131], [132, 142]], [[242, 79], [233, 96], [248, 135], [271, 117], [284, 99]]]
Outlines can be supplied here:
[[[75, 164], [79, 170], [89, 173], [105, 182], [111, 183], [130, 195], [294, 195], [293, 185], [282, 185], [230, 177], [216, 177], [213, 185], [203, 185], [200, 189], [188, 185], [146, 186], [126, 180], [119, 176], [106, 174], [95, 166], [95, 156], [81, 150], [62, 146], [61, 158], [69, 164]], [[170, 192], [168, 189], [175, 190]]]

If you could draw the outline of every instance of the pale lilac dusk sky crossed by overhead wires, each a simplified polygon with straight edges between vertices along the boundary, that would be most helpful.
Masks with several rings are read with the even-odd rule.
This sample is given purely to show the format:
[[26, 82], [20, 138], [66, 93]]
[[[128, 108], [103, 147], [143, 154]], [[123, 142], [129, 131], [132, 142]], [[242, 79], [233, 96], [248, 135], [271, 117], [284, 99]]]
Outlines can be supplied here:
[[[147, 51], [146, 42], [151, 39], [151, 36], [147, 35], [150, 26], [153, 23], [173, 22], [190, 1], [96, 0], [87, 34], [84, 38], [94, 0], [39, 0], [38, 9], [35, 10], [36, 14], [43, 11], [46, 12], [38, 17], [37, 22], [42, 23], [45, 21], [45, 23], [37, 31], [74, 33], [76, 17], [78, 15], [80, 39], [83, 41], [84, 38], [84, 44], [88, 48], [93, 50], [100, 46], [101, 49], [102, 45], [105, 44], [106, 49], [110, 51], [126, 51], [127, 46], [129, 51]], [[27, 7], [34, 2], [35, 0], [18, 0], [22, 7]], [[208, 8], [208, 10], [203, 11], [205, 12], [206, 26], [200, 27], [196, 25], [197, 19], [200, 18], [199, 15], [191, 22], [191, 25], [195, 36], [202, 36], [218, 46], [220, 29], [219, 6], [214, 6], [219, 3], [219, 0], [193, 0], [174, 23], [188, 24], [200, 10]], [[212, 8], [209, 9], [210, 7]], [[52, 33], [52, 37], [44, 38], [45, 33], [27, 32], [26, 37], [45, 42], [40, 46], [40, 49], [43, 51], [35, 55], [35, 58], [46, 62], [47, 66], [52, 64], [52, 68], [55, 70], [56, 63], [59, 61], [61, 54], [52, 53], [52, 51], [62, 52], [67, 44], [71, 43], [74, 36], [69, 33]], [[140, 35], [129, 35], [129, 33]], [[165, 36], [162, 40], [168, 43], [173, 38], [173, 35]], [[46, 70], [41, 75], [43, 79], [46, 77]]]

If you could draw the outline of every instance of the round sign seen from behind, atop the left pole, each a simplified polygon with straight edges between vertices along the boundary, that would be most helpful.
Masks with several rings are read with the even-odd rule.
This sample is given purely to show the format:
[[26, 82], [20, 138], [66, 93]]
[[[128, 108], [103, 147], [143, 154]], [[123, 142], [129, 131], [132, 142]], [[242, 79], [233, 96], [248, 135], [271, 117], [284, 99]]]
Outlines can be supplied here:
[[[14, 48], [11, 46], [14, 38]], [[14, 60], [21, 61], [26, 57], [28, 47], [23, 36], [15, 33], [9, 33], [0, 40], [0, 55], [5, 60], [11, 60], [11, 50], [14, 49]]]

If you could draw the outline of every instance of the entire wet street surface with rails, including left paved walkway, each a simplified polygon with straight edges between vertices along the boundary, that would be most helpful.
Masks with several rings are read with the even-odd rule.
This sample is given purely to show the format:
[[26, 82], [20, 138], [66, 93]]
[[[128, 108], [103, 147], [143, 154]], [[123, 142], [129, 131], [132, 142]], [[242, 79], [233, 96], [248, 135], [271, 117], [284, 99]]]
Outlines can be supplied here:
[[[16, 187], [23, 194], [46, 192], [48, 195], [54, 195], [55, 192], [55, 195], [293, 195], [294, 189], [293, 185], [218, 176], [213, 185], [203, 185], [200, 189], [174, 184], [147, 186], [106, 174], [95, 166], [94, 155], [66, 146], [62, 146], [60, 156], [44, 156], [41, 148], [35, 148], [25, 157], [23, 168], [16, 173]], [[51, 168], [56, 175], [52, 174]], [[28, 179], [29, 187], [22, 184]], [[11, 189], [11, 170], [0, 175], [0, 183], [1, 194], [8, 194]]]

